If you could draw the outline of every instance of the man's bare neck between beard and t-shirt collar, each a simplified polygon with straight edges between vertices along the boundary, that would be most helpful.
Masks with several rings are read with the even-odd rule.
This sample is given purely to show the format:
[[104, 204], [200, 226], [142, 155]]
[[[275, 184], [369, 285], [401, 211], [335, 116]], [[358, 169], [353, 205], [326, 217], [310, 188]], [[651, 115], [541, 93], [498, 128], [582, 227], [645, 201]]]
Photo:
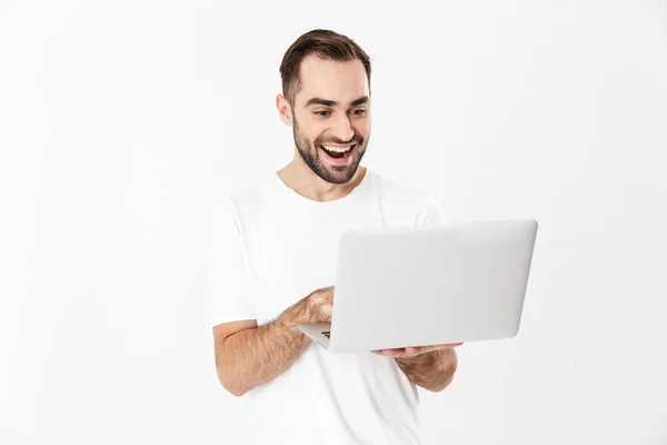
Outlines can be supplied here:
[[317, 176], [305, 162], [293, 159], [277, 171], [285, 185], [305, 198], [315, 201], [331, 201], [346, 197], [361, 184], [366, 167], [359, 166], [357, 172], [346, 184], [331, 184]]

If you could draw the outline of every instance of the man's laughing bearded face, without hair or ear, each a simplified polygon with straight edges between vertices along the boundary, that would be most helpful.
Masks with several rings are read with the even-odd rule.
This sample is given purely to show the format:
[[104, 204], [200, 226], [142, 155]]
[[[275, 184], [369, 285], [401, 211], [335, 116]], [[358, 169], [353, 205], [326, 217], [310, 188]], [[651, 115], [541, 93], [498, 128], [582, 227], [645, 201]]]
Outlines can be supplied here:
[[292, 106], [293, 135], [303, 161], [331, 184], [349, 181], [370, 138], [370, 90], [360, 60], [301, 62], [301, 89]]

